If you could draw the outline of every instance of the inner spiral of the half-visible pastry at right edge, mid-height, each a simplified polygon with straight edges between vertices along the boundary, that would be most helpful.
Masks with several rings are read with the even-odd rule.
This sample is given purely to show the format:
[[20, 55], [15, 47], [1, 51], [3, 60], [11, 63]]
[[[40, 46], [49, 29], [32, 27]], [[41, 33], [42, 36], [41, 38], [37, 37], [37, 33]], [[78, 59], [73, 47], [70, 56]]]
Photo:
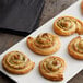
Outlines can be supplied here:
[[82, 38], [81, 39], [78, 39], [74, 43], [74, 50], [83, 54], [83, 39]]

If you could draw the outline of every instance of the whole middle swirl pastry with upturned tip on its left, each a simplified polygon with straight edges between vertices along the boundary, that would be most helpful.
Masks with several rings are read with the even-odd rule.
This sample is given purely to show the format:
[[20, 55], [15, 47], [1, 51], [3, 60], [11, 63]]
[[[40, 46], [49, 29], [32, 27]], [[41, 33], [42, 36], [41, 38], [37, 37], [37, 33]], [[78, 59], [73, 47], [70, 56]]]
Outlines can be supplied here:
[[57, 35], [44, 33], [36, 38], [28, 37], [27, 46], [38, 55], [51, 55], [60, 48], [60, 39]]

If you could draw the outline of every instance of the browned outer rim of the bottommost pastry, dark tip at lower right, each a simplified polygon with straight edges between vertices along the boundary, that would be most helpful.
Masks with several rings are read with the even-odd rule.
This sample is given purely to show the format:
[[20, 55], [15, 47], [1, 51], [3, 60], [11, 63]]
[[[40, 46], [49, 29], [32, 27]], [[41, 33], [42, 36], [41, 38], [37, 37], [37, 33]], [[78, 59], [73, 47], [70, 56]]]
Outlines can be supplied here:
[[[56, 56], [51, 56], [51, 57], [56, 57]], [[50, 58], [50, 57], [48, 57], [48, 58]], [[63, 71], [64, 71], [64, 69], [66, 69], [66, 67], [67, 67], [64, 60], [61, 59], [60, 57], [56, 57], [56, 58], [59, 58], [59, 59], [63, 62]], [[45, 58], [45, 59], [47, 59], [47, 58]], [[45, 60], [45, 59], [44, 59], [44, 60]], [[43, 61], [44, 61], [44, 60], [43, 60]], [[40, 63], [42, 63], [43, 61], [39, 62], [39, 72], [40, 72], [40, 74], [42, 74], [44, 78], [46, 78], [46, 79], [48, 79], [48, 80], [50, 80], [50, 81], [62, 81], [62, 80], [63, 80], [63, 71], [61, 71], [60, 73], [57, 73], [56, 76], [50, 76], [50, 75], [47, 75], [47, 74], [43, 73], [43, 72], [42, 72], [42, 68], [40, 68]]]

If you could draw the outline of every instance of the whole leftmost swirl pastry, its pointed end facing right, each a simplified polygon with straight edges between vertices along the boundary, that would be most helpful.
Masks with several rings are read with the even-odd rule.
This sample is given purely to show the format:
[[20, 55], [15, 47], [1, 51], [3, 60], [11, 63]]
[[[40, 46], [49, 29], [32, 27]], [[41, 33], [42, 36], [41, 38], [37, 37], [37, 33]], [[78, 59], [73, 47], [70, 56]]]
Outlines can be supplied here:
[[20, 51], [11, 51], [2, 59], [3, 68], [13, 74], [25, 74], [29, 72], [35, 63]]

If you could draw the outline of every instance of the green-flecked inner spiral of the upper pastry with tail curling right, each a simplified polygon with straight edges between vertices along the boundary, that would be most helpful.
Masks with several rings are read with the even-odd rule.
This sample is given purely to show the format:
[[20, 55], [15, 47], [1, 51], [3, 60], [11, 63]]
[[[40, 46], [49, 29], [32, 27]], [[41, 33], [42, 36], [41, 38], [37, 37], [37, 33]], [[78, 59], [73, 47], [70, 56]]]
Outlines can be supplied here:
[[76, 20], [73, 20], [71, 17], [61, 17], [57, 21], [57, 25], [63, 29], [63, 31], [69, 31], [73, 27], [80, 26], [80, 23]]

